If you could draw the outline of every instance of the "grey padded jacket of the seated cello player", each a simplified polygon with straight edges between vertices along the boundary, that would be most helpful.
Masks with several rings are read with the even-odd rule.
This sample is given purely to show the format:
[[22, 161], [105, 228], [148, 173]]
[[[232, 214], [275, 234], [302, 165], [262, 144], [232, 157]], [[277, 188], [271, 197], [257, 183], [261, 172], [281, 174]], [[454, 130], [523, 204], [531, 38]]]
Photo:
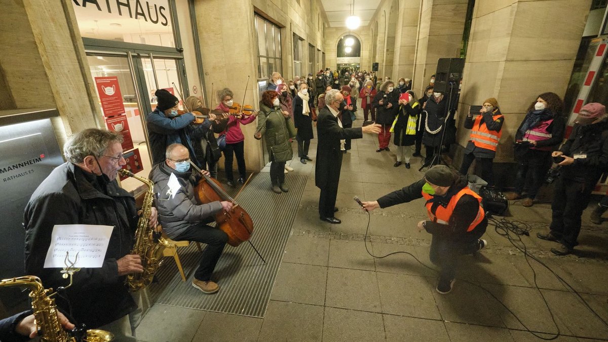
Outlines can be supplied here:
[[[175, 193], [168, 186], [173, 173], [181, 187]], [[219, 201], [197, 204], [194, 186], [200, 176], [192, 171], [178, 172], [166, 162], [156, 164], [150, 171], [150, 180], [154, 182], [154, 197], [158, 210], [158, 222], [168, 237], [174, 239], [191, 226], [209, 222], [209, 217], [222, 209]]]

